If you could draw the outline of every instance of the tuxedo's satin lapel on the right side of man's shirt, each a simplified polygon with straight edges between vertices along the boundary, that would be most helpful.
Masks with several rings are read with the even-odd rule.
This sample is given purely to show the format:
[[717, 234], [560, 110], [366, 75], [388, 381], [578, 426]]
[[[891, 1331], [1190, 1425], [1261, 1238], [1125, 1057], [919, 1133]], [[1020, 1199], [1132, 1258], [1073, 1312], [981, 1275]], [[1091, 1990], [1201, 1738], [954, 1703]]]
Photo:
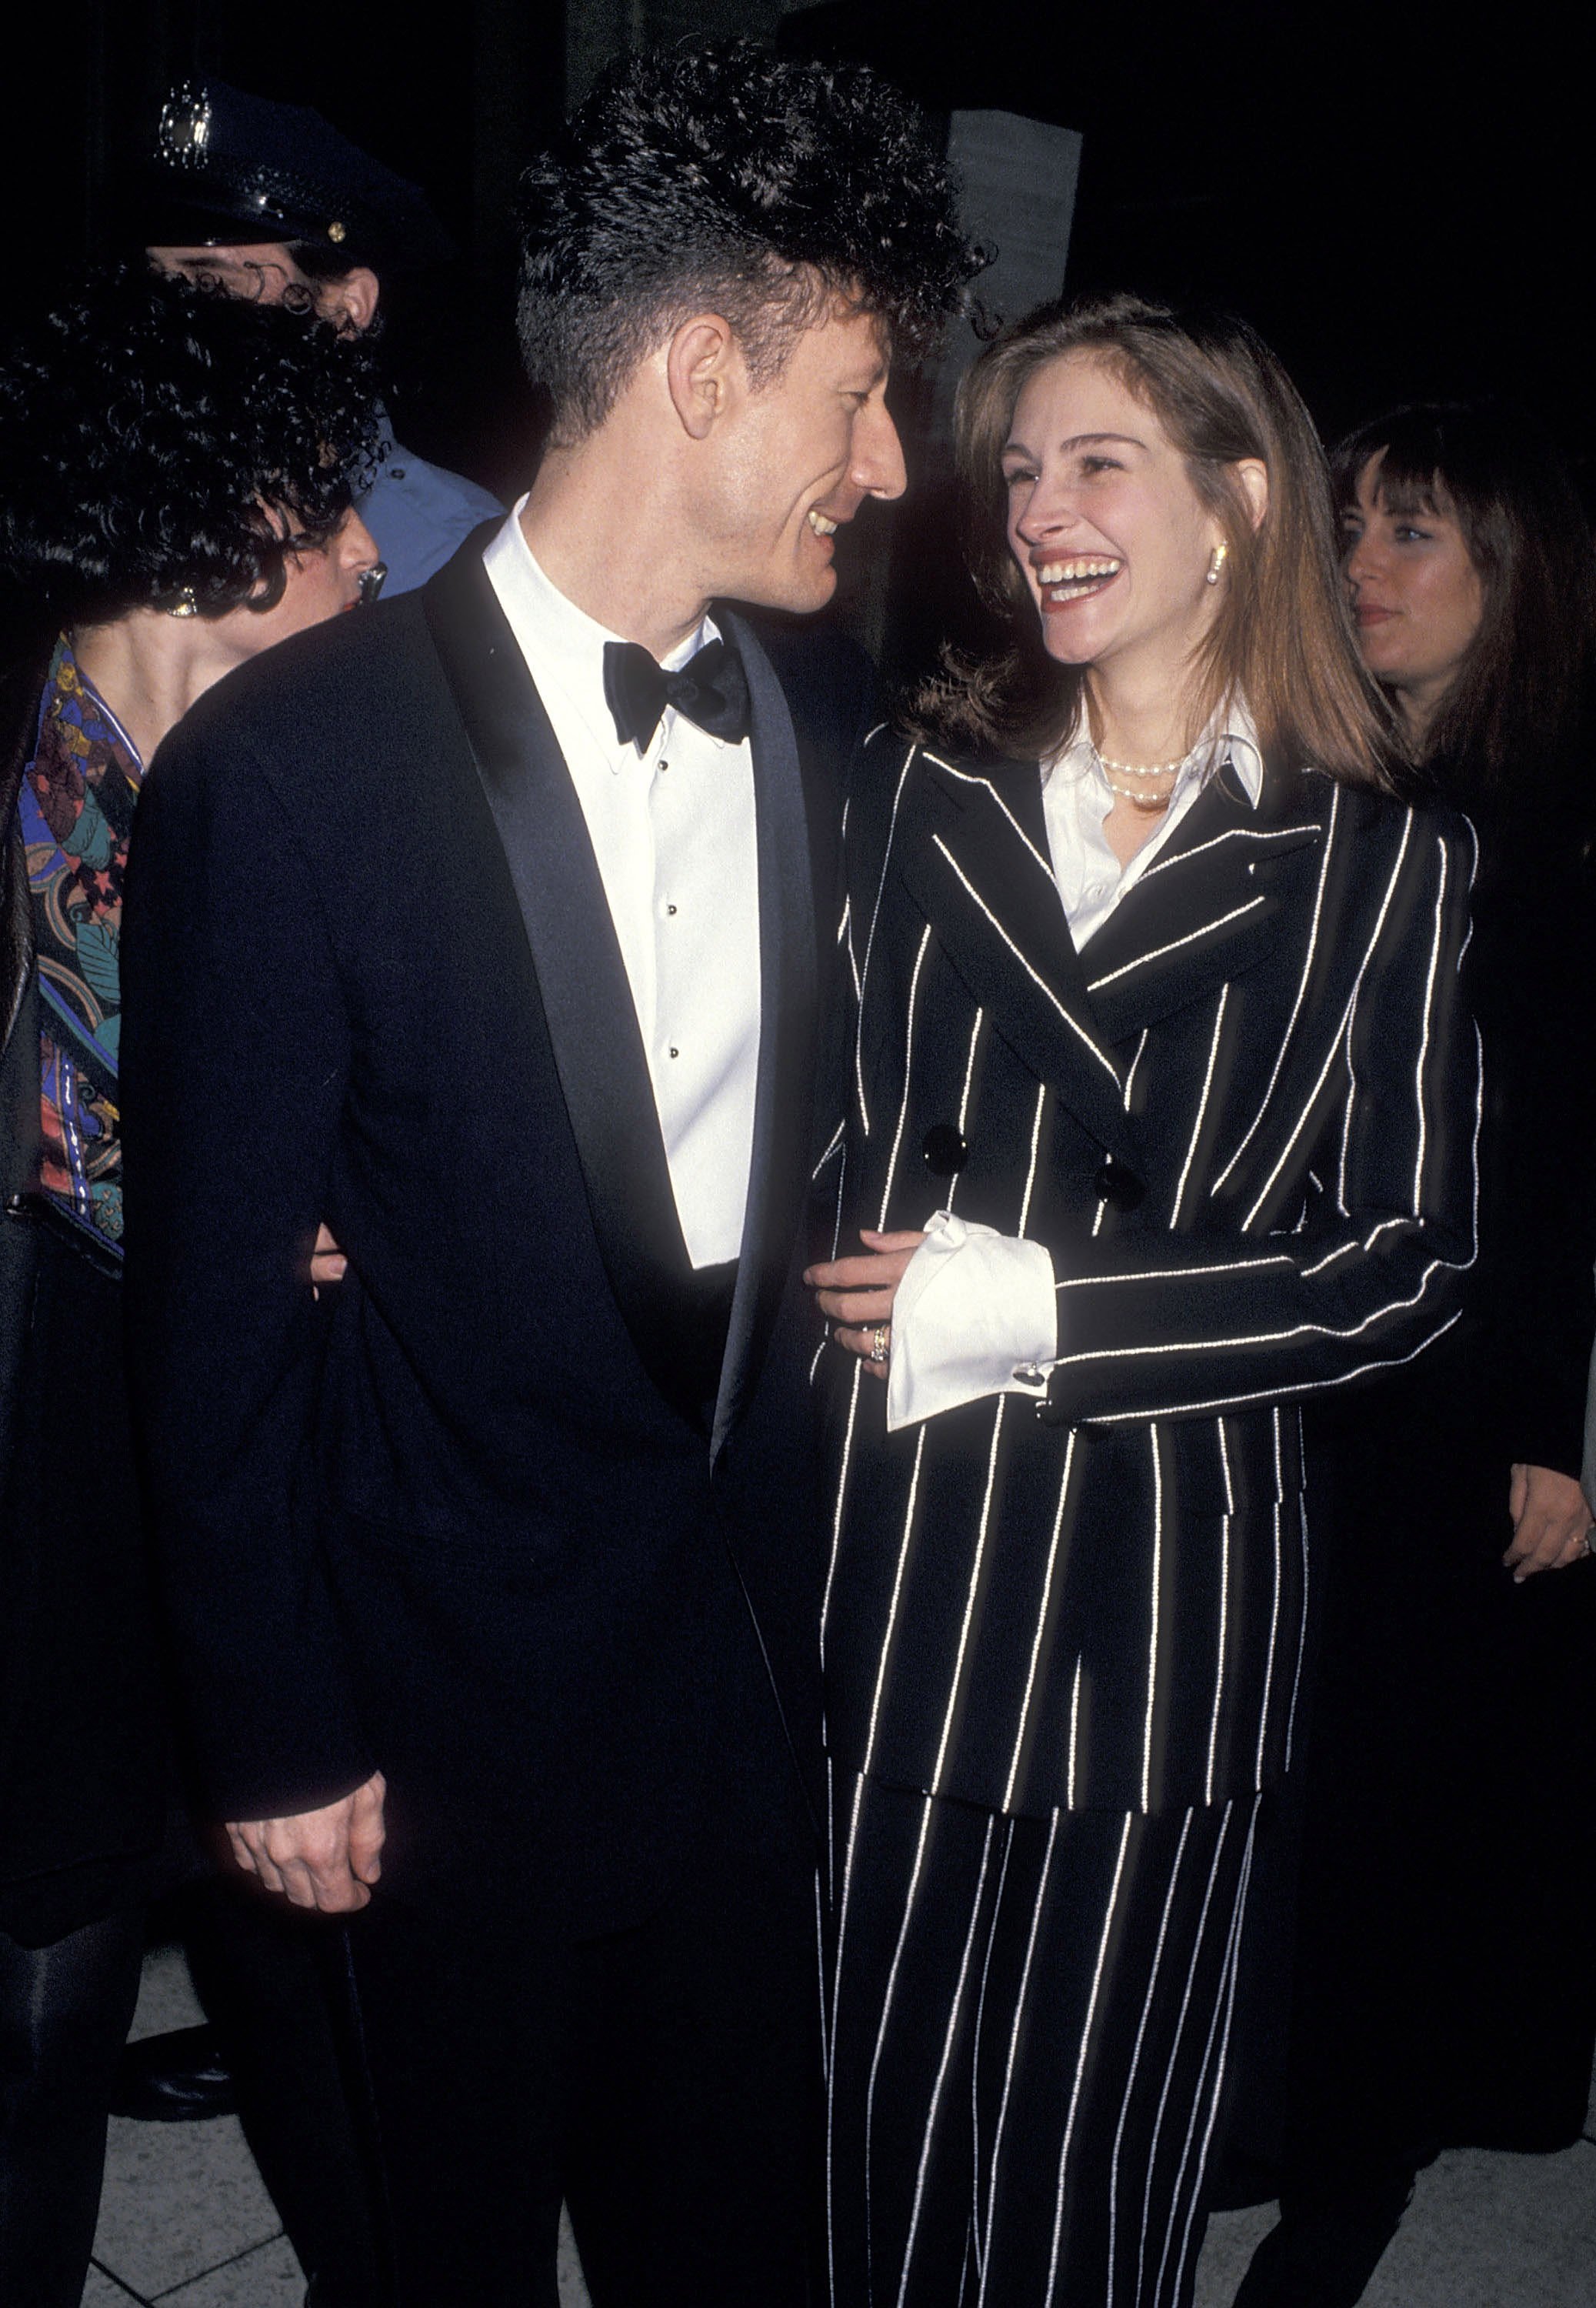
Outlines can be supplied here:
[[793, 718], [775, 669], [747, 621], [722, 607], [715, 609], [715, 619], [727, 639], [736, 642], [743, 653], [750, 695], [759, 840], [759, 1080], [743, 1256], [731, 1299], [727, 1357], [720, 1371], [710, 1456], [720, 1454], [759, 1373], [791, 1267], [810, 1159], [810, 1085], [816, 1032], [810, 815]]

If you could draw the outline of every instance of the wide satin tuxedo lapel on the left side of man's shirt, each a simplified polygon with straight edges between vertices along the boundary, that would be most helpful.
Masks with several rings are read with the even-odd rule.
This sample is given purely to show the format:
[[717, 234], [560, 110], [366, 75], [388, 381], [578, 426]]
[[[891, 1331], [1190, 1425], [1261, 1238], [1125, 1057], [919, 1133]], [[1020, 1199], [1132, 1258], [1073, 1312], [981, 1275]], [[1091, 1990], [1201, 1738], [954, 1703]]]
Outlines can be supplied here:
[[427, 623], [514, 882], [616, 1304], [648, 1376], [697, 1417], [671, 1355], [687, 1253], [632, 988], [577, 789], [473, 545], [427, 586]]

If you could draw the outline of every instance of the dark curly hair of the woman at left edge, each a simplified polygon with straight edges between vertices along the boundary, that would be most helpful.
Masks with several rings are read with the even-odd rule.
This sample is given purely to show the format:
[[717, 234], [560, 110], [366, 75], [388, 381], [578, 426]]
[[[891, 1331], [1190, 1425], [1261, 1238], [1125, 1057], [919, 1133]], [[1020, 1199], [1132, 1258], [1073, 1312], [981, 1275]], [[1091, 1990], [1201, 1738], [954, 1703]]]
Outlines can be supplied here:
[[270, 609], [376, 443], [357, 339], [143, 265], [90, 275], [0, 355], [0, 584], [78, 625]]

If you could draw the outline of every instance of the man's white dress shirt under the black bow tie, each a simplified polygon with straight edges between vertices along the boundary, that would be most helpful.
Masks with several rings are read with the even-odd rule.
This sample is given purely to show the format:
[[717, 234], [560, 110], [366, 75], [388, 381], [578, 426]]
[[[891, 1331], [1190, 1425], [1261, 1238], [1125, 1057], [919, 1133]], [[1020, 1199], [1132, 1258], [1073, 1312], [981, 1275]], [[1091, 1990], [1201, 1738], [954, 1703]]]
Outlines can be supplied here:
[[[521, 508], [482, 554], [588, 824], [694, 1267], [743, 1249], [759, 1076], [754, 757], [667, 706], [639, 752], [604, 704], [607, 632], [537, 568]], [[703, 621], [669, 658], [717, 639]]]

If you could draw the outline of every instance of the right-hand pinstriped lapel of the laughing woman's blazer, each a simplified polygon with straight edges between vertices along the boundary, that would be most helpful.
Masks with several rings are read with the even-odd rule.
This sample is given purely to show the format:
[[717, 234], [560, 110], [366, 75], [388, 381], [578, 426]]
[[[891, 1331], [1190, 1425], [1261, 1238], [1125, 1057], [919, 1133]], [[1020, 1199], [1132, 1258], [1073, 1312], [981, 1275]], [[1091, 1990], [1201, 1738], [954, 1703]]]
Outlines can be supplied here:
[[1305, 780], [1266, 771], [1257, 810], [1229, 764], [1169, 847], [1082, 951], [1102, 1032], [1123, 1041], [1250, 969], [1292, 919], [1317, 868], [1322, 824]]

